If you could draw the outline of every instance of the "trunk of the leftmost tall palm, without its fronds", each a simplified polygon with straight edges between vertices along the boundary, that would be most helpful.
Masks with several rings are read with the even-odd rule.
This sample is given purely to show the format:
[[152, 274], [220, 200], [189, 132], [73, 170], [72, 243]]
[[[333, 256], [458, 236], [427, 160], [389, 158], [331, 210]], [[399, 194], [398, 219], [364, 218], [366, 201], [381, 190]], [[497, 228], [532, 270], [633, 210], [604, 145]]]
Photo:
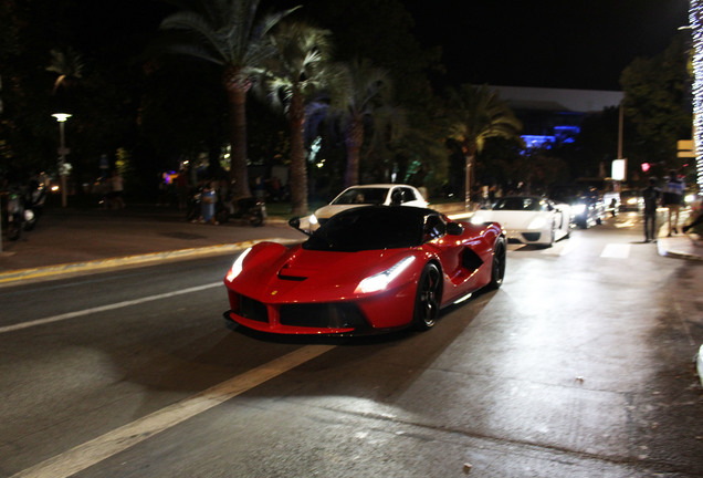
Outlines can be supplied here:
[[235, 199], [251, 197], [246, 173], [246, 91], [249, 87], [237, 80], [225, 79], [230, 103], [230, 179], [234, 181]]

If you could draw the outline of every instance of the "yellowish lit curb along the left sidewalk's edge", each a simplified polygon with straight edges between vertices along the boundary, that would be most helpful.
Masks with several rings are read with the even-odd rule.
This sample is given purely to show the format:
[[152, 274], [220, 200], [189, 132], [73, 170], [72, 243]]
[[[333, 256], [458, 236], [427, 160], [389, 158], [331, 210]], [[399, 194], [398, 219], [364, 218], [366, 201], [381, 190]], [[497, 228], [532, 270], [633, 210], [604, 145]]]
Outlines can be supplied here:
[[120, 266], [143, 266], [154, 262], [162, 262], [167, 260], [182, 260], [189, 259], [193, 257], [204, 257], [204, 256], [223, 256], [225, 253], [237, 252], [239, 250], [252, 247], [259, 242], [279, 242], [282, 245], [295, 243], [297, 242], [294, 239], [283, 239], [283, 238], [269, 238], [269, 239], [255, 239], [248, 240], [241, 242], [225, 243], [225, 245], [216, 245], [216, 246], [207, 246], [201, 248], [187, 248], [187, 249], [177, 249], [171, 251], [164, 252], [150, 252], [144, 254], [134, 254], [134, 256], [125, 256], [117, 258], [108, 258], [108, 259], [97, 259], [85, 262], [71, 262], [57, 266], [48, 266], [40, 268], [30, 268], [30, 269], [15, 269], [8, 272], [0, 273], [0, 287], [28, 279], [49, 279], [60, 274], [70, 274], [70, 273], [78, 273], [78, 272], [93, 272], [101, 271], [106, 269], [112, 269]]

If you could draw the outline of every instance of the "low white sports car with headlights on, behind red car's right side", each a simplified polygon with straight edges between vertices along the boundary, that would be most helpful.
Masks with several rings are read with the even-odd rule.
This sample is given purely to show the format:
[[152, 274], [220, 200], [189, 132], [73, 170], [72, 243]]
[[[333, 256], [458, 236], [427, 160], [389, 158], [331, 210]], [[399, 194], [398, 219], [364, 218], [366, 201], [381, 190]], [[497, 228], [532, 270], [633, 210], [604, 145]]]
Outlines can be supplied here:
[[550, 247], [569, 237], [571, 209], [567, 204], [554, 202], [537, 196], [507, 196], [491, 209], [481, 209], [471, 218], [473, 224], [500, 222], [508, 241]]

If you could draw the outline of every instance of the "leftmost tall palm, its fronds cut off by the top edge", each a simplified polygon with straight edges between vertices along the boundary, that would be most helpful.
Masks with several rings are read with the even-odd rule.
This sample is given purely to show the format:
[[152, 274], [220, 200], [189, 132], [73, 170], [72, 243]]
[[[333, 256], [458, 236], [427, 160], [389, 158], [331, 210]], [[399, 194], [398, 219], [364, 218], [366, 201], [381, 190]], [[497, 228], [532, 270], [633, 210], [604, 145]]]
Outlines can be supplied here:
[[202, 12], [181, 11], [161, 22], [161, 29], [178, 29], [195, 37], [172, 50], [223, 67], [222, 83], [230, 105], [230, 177], [234, 197], [251, 197], [246, 174], [246, 93], [262, 65], [271, 56], [266, 37], [296, 8], [279, 11], [256, 22], [260, 0], [201, 0]]

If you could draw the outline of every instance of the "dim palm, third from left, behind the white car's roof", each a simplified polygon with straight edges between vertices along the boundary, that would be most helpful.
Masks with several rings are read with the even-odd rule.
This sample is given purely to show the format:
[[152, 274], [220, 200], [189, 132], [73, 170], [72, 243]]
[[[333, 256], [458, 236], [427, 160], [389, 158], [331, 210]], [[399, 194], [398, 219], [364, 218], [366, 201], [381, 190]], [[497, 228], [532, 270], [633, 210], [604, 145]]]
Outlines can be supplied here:
[[392, 85], [386, 70], [368, 60], [353, 60], [339, 65], [340, 80], [335, 83], [332, 108], [336, 111], [345, 132], [347, 168], [344, 186], [359, 183], [359, 152], [364, 145], [365, 122], [389, 118]]

